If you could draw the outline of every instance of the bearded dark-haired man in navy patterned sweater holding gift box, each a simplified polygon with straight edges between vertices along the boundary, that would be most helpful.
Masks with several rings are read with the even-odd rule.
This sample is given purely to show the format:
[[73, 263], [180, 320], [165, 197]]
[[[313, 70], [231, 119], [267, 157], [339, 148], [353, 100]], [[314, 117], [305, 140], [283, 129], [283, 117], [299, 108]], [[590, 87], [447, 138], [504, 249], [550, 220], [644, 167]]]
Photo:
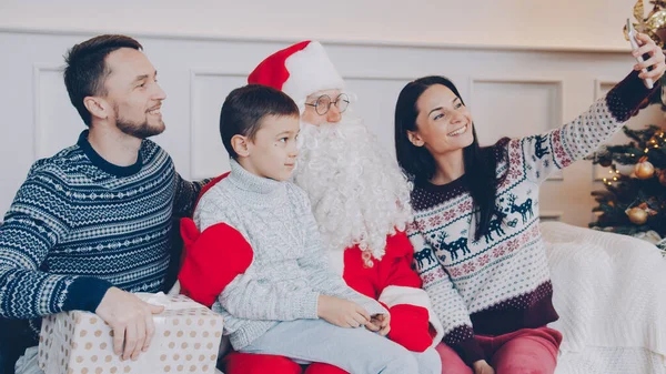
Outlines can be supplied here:
[[[163, 287], [171, 218], [191, 215], [202, 183], [147, 140], [164, 131], [165, 94], [141, 50], [100, 36], [69, 51], [64, 83], [89, 129], [32, 165], [0, 226], [0, 316], [30, 320], [32, 345], [41, 317], [71, 310], [105, 321], [123, 360], [150, 345], [162, 307], [131, 292]], [[33, 371], [36, 354], [17, 372]]]

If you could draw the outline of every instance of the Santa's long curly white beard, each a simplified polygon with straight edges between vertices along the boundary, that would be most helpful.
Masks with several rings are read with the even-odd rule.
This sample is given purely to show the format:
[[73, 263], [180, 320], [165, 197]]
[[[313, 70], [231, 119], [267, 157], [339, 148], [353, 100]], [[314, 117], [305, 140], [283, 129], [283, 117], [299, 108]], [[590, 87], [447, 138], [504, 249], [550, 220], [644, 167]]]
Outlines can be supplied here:
[[412, 216], [407, 180], [397, 162], [357, 118], [301, 123], [294, 182], [307, 192], [323, 239], [332, 250], [359, 244], [380, 260], [386, 235]]

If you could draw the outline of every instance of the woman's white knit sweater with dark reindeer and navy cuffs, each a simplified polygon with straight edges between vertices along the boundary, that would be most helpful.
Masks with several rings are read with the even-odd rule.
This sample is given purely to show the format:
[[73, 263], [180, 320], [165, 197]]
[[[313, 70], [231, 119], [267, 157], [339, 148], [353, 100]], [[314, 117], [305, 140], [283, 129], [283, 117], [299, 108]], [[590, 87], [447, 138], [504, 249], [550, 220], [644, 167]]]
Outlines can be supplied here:
[[415, 265], [444, 325], [444, 343], [467, 364], [490, 358], [475, 334], [500, 335], [557, 320], [538, 231], [539, 185], [594, 152], [648, 94], [632, 73], [559, 129], [504, 139], [488, 150], [497, 160], [497, 211], [478, 241], [467, 175], [445, 185], [415, 181], [415, 219], [408, 228]]

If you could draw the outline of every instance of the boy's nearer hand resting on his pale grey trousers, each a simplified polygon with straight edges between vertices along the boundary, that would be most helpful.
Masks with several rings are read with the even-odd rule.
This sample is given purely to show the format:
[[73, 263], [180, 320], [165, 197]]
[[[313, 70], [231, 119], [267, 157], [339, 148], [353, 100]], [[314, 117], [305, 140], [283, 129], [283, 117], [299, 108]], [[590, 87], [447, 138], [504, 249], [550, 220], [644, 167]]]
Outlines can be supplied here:
[[367, 312], [361, 305], [344, 299], [320, 295], [316, 314], [320, 319], [340, 327], [371, 325]]

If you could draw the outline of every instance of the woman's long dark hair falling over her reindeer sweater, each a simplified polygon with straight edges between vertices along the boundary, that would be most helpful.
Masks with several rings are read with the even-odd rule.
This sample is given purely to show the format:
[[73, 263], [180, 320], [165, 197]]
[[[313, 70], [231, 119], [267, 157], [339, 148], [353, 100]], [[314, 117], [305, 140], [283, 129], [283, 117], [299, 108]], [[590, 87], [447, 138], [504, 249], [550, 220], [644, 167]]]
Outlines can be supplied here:
[[[416, 131], [416, 117], [418, 108], [416, 101], [431, 85], [442, 84], [447, 87], [463, 102], [463, 98], [452, 81], [444, 77], [424, 77], [407, 83], [397, 98], [395, 104], [395, 153], [397, 163], [405, 173], [417, 181], [430, 181], [436, 171], [433, 155], [425, 146], [412, 144], [407, 131]], [[463, 150], [467, 188], [478, 208], [476, 215], [476, 230], [474, 239], [480, 240], [488, 233], [490, 221], [495, 213], [495, 195], [497, 193], [497, 161], [492, 148], [481, 148], [476, 129], [473, 127], [474, 141]]]

